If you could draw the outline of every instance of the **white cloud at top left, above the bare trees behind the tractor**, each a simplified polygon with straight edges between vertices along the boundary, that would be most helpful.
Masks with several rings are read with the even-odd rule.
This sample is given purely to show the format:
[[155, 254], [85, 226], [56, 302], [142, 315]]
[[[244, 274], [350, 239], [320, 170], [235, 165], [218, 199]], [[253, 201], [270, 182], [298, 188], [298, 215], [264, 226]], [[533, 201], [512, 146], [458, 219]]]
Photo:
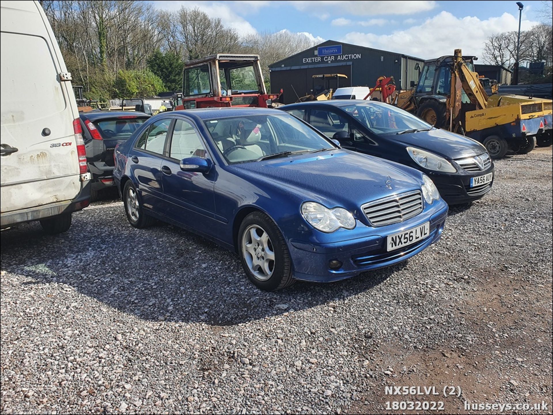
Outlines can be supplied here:
[[[243, 1], [241, 3], [250, 3], [249, 1]], [[255, 2], [252, 2], [255, 3]], [[263, 3], [263, 2], [262, 2]], [[244, 19], [242, 16], [238, 15], [233, 11], [232, 7], [229, 7], [229, 4], [233, 6], [234, 3], [219, 3], [219, 2], [201, 2], [201, 1], [159, 1], [153, 2], [154, 7], [158, 9], [168, 9], [168, 10], [180, 10], [181, 6], [185, 8], [193, 9], [199, 8], [202, 12], [206, 12], [209, 17], [220, 18], [221, 22], [227, 28], [236, 30], [238, 35], [247, 36], [256, 34], [257, 30]]]

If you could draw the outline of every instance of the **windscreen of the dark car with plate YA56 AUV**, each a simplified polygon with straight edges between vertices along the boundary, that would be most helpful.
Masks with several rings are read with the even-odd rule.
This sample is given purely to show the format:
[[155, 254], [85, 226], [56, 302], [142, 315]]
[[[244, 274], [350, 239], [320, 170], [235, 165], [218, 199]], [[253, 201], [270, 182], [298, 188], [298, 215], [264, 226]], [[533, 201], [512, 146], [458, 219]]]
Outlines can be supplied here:
[[432, 125], [415, 115], [386, 103], [355, 103], [340, 107], [377, 135], [430, 130]]

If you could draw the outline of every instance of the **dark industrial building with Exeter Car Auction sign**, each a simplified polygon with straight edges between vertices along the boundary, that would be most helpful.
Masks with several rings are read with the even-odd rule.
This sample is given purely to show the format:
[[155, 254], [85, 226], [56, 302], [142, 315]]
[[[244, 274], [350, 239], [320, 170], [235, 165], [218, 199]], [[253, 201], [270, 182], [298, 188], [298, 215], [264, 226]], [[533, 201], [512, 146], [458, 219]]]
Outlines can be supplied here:
[[[423, 64], [419, 57], [327, 40], [269, 65], [271, 92], [283, 90], [281, 102], [289, 104], [311, 93], [313, 75], [331, 73], [347, 76], [340, 77], [340, 87], [373, 87], [380, 76], [393, 76], [405, 90], [419, 81]], [[336, 88], [336, 80], [330, 87]]]

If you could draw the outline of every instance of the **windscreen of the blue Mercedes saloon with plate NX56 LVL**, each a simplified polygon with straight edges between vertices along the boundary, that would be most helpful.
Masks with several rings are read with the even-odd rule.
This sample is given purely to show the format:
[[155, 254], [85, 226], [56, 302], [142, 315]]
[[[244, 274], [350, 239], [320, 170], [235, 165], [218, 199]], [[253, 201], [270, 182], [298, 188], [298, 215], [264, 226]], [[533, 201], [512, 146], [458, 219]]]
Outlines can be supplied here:
[[229, 164], [336, 149], [320, 133], [286, 113], [221, 117], [204, 124]]

